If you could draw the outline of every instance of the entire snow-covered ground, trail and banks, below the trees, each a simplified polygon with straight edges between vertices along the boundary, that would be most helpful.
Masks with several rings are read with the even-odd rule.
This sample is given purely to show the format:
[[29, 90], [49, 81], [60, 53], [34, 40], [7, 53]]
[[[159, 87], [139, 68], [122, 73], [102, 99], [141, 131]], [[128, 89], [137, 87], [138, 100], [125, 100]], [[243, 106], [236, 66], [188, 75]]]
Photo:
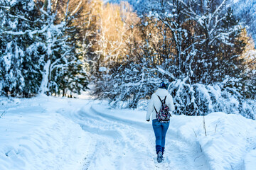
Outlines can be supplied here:
[[173, 115], [156, 162], [145, 111], [88, 98], [0, 97], [0, 169], [256, 169], [256, 123], [241, 115]]

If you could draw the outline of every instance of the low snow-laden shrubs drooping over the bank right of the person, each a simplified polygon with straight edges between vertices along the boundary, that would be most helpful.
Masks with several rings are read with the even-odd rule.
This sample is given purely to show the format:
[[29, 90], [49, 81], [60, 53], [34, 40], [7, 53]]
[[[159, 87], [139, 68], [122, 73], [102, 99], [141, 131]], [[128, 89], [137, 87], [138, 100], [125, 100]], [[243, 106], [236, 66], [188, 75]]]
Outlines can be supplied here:
[[206, 115], [220, 111], [256, 118], [254, 100], [244, 98], [238, 89], [225, 84], [188, 84], [186, 79], [177, 80], [171, 82], [169, 92], [174, 96], [176, 114]]

